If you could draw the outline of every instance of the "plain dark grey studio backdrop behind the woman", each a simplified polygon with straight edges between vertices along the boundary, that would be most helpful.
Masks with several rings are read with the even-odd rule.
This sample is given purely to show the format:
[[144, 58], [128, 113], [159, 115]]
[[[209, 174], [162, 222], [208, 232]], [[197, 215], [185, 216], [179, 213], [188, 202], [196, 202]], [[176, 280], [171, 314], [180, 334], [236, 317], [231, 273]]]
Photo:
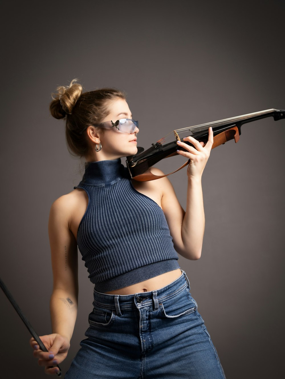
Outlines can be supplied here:
[[[284, 109], [284, 2], [28, 1], [2, 8], [0, 276], [37, 332], [51, 332], [47, 222], [81, 179], [58, 85], [123, 89], [145, 148], [174, 128]], [[228, 379], [283, 373], [285, 121], [242, 127], [203, 174], [198, 261], [180, 258]], [[164, 171], [177, 165], [164, 161]], [[185, 207], [186, 169], [170, 177]], [[93, 286], [79, 257], [79, 310], [67, 370], [87, 329]], [[29, 333], [0, 291], [1, 376], [44, 378]], [[112, 374], [110, 373], [110, 376]]]

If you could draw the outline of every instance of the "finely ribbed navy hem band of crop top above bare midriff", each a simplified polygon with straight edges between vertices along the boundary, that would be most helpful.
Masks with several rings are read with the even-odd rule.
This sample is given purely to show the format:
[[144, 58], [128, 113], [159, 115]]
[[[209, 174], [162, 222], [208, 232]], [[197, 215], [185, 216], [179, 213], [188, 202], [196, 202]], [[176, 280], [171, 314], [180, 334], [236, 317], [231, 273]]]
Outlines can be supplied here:
[[95, 290], [98, 292], [108, 292], [118, 290], [119, 288], [128, 287], [139, 282], [144, 282], [144, 280], [151, 279], [155, 276], [168, 273], [180, 268], [177, 259], [167, 259], [160, 262], [153, 262], [147, 266], [141, 266], [127, 273], [121, 274], [119, 276], [104, 280], [100, 283], [93, 282], [95, 284]]

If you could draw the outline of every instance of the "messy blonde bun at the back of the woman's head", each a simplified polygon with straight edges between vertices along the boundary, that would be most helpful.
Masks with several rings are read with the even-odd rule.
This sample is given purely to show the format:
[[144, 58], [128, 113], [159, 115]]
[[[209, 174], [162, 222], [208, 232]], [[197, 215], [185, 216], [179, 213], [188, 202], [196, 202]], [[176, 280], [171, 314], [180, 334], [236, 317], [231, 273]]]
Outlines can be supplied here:
[[53, 101], [50, 103], [50, 112], [56, 119], [64, 118], [67, 113], [72, 113], [74, 105], [82, 93], [82, 86], [79, 83], [74, 83], [77, 80], [71, 80], [69, 86], [57, 87], [57, 93], [52, 95]]

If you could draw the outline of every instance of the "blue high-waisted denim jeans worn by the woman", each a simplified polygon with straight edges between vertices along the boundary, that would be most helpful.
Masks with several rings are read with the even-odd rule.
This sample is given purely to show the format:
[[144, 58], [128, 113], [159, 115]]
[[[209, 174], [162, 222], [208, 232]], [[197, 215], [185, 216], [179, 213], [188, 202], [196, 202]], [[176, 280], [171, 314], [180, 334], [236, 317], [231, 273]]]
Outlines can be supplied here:
[[94, 290], [93, 306], [65, 379], [225, 378], [184, 271], [156, 291]]

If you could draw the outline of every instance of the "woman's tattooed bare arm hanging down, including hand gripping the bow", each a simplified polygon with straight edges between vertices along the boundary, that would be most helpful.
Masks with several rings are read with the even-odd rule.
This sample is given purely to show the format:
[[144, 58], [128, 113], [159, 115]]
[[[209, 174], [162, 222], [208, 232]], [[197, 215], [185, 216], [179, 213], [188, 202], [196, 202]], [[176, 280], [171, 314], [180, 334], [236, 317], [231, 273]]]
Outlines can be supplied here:
[[78, 279], [77, 246], [70, 231], [70, 195], [57, 199], [51, 207], [49, 236], [53, 268], [53, 293], [50, 300], [53, 334], [41, 336], [48, 352], [42, 352], [31, 339], [34, 356], [47, 374], [58, 370], [51, 367], [62, 362], [70, 347], [77, 315]]

